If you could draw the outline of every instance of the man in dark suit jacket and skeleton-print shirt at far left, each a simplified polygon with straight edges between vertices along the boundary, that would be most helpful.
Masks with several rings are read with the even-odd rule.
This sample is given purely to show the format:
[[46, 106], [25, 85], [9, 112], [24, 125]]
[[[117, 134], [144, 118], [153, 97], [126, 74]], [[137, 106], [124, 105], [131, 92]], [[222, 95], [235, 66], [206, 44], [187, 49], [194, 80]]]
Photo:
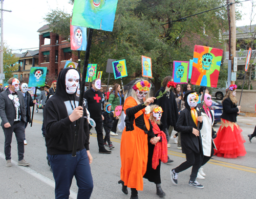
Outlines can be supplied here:
[[2, 119], [1, 126], [5, 134], [6, 166], [12, 166], [11, 142], [13, 132], [18, 145], [18, 165], [28, 166], [30, 163], [24, 160], [24, 125], [27, 121], [24, 97], [22, 92], [18, 91], [18, 79], [10, 78], [8, 84], [9, 88], [0, 95], [0, 116]]

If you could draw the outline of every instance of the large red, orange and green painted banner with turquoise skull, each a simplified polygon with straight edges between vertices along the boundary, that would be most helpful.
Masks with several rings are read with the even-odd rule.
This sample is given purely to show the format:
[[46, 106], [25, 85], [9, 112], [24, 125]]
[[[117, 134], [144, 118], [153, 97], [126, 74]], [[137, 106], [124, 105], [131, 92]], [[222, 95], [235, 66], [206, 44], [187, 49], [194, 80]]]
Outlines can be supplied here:
[[191, 84], [217, 87], [222, 49], [195, 45]]

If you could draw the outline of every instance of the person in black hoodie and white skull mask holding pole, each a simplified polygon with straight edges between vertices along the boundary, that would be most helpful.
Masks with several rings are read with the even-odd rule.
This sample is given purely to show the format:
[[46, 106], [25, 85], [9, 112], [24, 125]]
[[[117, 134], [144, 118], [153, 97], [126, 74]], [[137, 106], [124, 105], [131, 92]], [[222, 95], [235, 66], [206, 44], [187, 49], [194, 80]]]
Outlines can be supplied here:
[[[78, 106], [76, 96], [79, 73], [68, 67], [60, 71], [54, 95], [48, 99], [44, 110], [46, 147], [55, 180], [55, 198], [68, 198], [75, 176], [77, 198], [90, 198], [93, 179], [89, 151], [89, 125], [84, 105]], [[76, 122], [80, 118], [76, 156], [72, 157]]]

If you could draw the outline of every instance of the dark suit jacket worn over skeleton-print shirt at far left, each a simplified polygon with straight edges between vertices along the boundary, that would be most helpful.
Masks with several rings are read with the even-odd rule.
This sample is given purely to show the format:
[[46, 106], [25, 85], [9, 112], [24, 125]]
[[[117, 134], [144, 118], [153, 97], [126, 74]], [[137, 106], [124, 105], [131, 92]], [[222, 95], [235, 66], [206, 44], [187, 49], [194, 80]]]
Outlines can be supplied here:
[[[15, 119], [14, 102], [8, 97], [11, 94], [9, 88], [0, 93], [0, 117], [2, 119], [1, 126], [4, 127], [5, 123], [9, 122], [12, 126]], [[20, 103], [20, 120], [26, 122], [26, 107], [24, 96], [22, 92], [17, 91]]]

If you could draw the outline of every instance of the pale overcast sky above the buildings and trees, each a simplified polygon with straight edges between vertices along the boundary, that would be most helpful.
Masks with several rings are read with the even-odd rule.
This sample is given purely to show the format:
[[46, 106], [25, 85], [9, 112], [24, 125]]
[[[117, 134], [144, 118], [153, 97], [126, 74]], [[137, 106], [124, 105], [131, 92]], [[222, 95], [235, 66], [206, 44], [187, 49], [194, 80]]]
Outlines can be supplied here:
[[[245, 26], [249, 24], [249, 11], [251, 3], [243, 2], [242, 11], [243, 19], [237, 21], [237, 26]], [[34, 48], [39, 46], [39, 33], [37, 30], [44, 26], [46, 22], [42, 19], [50, 9], [64, 9], [71, 13], [73, 6], [68, 0], [5, 0], [4, 9], [12, 12], [4, 12], [4, 41], [9, 48], [23, 49], [16, 50], [13, 53], [24, 53], [26, 48]], [[256, 20], [253, 21], [255, 24]], [[37, 48], [38, 49], [38, 48]], [[34, 50], [34, 49], [31, 49]]]

